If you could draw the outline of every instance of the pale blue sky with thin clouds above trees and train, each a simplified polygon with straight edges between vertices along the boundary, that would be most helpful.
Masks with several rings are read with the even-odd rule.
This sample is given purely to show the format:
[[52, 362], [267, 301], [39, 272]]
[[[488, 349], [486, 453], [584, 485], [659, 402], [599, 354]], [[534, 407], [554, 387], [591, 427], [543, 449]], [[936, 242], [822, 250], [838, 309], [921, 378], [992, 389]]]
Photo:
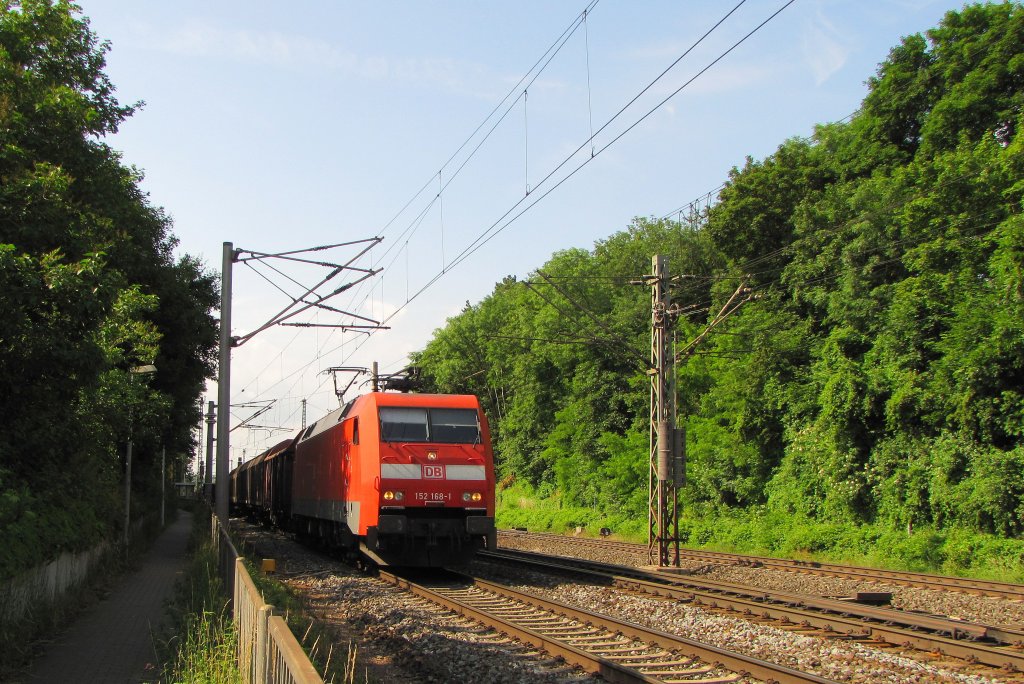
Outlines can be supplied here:
[[[308, 422], [338, 405], [325, 369], [397, 372], [504, 276], [673, 215], [748, 156], [852, 114], [901, 37], [961, 6], [746, 0], [729, 14], [736, 2], [82, 0], [119, 100], [144, 102], [106, 142], [144, 174], [179, 256], [219, 272], [224, 243], [382, 239], [317, 292], [381, 269], [325, 303], [387, 330], [273, 327], [233, 349], [232, 426], [270, 408], [231, 433], [231, 465], [298, 429], [302, 399]], [[232, 335], [330, 270], [236, 263]]]

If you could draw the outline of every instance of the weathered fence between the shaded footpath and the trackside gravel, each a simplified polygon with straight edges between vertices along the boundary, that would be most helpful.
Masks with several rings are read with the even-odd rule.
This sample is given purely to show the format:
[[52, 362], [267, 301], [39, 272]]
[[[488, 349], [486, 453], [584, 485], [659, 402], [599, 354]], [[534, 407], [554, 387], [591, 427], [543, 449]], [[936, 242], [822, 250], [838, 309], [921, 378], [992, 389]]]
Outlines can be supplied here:
[[231, 597], [239, 632], [239, 669], [252, 684], [324, 684], [288, 623], [274, 614], [253, 583], [231, 540], [212, 518], [220, 576]]

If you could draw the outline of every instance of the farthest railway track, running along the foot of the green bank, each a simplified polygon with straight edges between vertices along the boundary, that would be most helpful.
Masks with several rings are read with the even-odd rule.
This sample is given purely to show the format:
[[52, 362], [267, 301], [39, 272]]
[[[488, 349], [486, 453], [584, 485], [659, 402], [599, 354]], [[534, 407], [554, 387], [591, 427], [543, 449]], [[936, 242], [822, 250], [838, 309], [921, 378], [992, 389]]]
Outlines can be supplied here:
[[[631, 542], [617, 542], [613, 540], [589, 539], [566, 537], [564, 535], [551, 535], [544, 532], [528, 532], [520, 530], [506, 530], [499, 532], [499, 545], [501, 540], [538, 540], [550, 543], [553, 539], [559, 544], [577, 547], [590, 547], [599, 549], [609, 549], [635, 553], [638, 557], [647, 555], [647, 547], [643, 544]], [[976, 596], [989, 596], [993, 598], [1024, 601], [1024, 585], [1015, 585], [1006, 582], [990, 582], [986, 580], [972, 580], [969, 578], [950, 578], [941, 574], [928, 574], [925, 572], [906, 572], [900, 570], [885, 570], [869, 567], [857, 567], [854, 565], [841, 565], [838, 563], [824, 563], [818, 561], [787, 560], [784, 558], [771, 558], [769, 556], [744, 556], [740, 554], [724, 553], [718, 551], [700, 551], [693, 549], [680, 549], [680, 558], [692, 562], [705, 562], [715, 565], [742, 565], [746, 567], [765, 567], [788, 572], [806, 572], [833, 578], [844, 578], [849, 580], [862, 580], [866, 582], [883, 582], [902, 587], [915, 587], [920, 589], [933, 589], [937, 591], [954, 591]]]

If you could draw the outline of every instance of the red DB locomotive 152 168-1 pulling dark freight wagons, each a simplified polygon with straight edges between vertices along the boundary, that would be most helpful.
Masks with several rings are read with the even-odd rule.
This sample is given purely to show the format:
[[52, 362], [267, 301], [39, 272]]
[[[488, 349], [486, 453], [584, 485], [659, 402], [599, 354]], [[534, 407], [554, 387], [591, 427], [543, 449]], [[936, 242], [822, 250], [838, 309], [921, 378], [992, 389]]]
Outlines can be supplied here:
[[234, 514], [384, 565], [494, 549], [490, 433], [471, 395], [370, 392], [231, 471]]

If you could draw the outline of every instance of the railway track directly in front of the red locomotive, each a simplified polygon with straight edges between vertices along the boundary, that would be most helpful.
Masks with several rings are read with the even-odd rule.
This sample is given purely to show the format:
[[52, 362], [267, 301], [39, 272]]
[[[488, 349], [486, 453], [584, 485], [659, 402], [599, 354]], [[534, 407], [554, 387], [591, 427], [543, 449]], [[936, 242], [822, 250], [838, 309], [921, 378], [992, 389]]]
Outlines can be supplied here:
[[609, 682], [725, 684], [746, 677], [779, 684], [833, 681], [480, 579], [453, 573], [441, 582], [418, 584], [385, 570], [379, 576]]

